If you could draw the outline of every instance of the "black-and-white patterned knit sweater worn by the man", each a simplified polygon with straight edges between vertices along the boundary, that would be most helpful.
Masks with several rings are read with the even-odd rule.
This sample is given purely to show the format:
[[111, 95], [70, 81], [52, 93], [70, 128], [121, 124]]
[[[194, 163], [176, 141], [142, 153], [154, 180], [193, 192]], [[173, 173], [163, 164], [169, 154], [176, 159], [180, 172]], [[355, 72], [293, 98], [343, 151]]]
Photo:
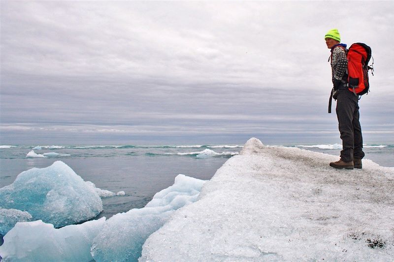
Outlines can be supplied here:
[[346, 45], [340, 44], [331, 50], [332, 82], [334, 79], [347, 82], [348, 59], [346, 58]]

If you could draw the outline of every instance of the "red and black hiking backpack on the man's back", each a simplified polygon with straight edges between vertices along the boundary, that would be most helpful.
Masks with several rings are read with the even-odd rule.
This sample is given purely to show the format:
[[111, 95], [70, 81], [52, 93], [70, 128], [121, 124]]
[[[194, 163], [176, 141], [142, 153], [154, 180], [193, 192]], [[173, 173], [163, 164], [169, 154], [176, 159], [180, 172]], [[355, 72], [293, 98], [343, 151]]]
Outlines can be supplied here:
[[373, 62], [368, 66], [371, 48], [363, 43], [355, 43], [350, 46], [347, 58], [349, 90], [356, 95], [363, 95], [369, 90], [369, 69], [372, 69], [373, 75]]

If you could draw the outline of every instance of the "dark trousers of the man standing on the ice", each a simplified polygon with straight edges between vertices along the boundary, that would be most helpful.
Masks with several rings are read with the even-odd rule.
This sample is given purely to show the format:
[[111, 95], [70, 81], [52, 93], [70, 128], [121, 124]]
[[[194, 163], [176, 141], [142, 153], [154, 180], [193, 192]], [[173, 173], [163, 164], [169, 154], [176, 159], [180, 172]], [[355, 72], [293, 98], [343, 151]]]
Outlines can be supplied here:
[[342, 139], [341, 160], [344, 162], [362, 159], [365, 155], [362, 151], [359, 109], [358, 96], [348, 89], [338, 90], [336, 116]]

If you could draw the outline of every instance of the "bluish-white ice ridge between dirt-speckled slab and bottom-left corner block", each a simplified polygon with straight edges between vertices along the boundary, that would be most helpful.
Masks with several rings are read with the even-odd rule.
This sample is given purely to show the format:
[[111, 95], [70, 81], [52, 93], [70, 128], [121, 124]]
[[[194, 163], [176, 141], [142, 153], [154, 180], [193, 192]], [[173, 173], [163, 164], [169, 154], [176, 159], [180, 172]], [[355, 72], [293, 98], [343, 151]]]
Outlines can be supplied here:
[[177, 208], [195, 202], [204, 182], [177, 175], [174, 184], [156, 193], [145, 207], [108, 219], [94, 239], [93, 258], [96, 261], [136, 261], [145, 239], [162, 227]]

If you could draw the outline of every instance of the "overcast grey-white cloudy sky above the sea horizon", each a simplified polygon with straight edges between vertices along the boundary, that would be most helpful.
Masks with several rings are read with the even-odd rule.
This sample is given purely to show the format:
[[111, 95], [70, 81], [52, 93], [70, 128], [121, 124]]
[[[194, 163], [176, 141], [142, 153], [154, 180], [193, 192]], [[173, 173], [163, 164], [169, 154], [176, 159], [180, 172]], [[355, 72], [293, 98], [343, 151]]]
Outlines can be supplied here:
[[2, 0], [0, 143], [340, 143], [332, 28], [372, 48], [364, 142], [393, 141], [393, 25], [392, 1]]

